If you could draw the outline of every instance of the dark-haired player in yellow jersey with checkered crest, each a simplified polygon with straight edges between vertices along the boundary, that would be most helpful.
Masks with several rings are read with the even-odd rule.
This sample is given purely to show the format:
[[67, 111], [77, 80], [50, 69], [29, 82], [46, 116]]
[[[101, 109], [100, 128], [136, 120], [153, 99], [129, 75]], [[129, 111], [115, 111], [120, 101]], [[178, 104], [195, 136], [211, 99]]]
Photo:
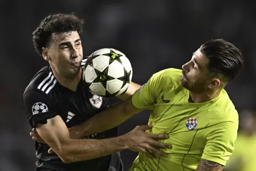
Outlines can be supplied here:
[[139, 153], [130, 171], [222, 170], [233, 153], [238, 129], [237, 111], [223, 88], [242, 66], [242, 54], [233, 44], [223, 39], [207, 41], [182, 70], [155, 73], [131, 98], [95, 115], [77, 131], [102, 132], [150, 109], [152, 127], [147, 133], [169, 135], [159, 141], [172, 148], [161, 149], [166, 157], [154, 156], [153, 148], [145, 150], [147, 155]]

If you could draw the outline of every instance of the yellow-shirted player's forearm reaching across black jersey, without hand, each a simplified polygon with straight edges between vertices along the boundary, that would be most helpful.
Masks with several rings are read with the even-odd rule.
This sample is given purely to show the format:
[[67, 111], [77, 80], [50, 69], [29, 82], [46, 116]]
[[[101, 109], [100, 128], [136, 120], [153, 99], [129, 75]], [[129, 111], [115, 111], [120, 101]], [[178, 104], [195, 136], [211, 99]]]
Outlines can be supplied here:
[[[131, 103], [131, 98], [127, 100], [130, 100]], [[127, 102], [127, 100], [111, 106], [79, 125], [71, 127], [69, 129], [69, 137], [79, 139], [87, 135], [110, 130], [126, 121], [126, 119], [130, 118], [133, 114], [141, 111], [141, 109], [126, 105], [125, 102]]]

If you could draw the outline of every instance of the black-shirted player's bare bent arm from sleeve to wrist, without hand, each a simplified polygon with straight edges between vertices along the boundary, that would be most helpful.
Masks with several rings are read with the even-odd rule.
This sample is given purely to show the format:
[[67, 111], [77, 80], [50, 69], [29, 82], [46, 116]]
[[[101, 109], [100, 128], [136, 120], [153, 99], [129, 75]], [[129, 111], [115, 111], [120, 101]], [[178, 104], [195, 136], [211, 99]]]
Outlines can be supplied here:
[[125, 136], [104, 140], [70, 139], [60, 116], [47, 119], [47, 124], [38, 124], [36, 130], [65, 163], [98, 158], [128, 148]]

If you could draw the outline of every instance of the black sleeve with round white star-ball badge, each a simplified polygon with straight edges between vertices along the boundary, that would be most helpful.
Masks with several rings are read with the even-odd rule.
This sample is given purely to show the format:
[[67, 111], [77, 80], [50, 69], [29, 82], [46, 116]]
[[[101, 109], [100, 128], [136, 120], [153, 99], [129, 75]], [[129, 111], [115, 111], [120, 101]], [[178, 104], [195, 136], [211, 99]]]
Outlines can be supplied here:
[[23, 94], [28, 122], [31, 127], [46, 124], [47, 119], [58, 115], [53, 100], [40, 90], [28, 90]]

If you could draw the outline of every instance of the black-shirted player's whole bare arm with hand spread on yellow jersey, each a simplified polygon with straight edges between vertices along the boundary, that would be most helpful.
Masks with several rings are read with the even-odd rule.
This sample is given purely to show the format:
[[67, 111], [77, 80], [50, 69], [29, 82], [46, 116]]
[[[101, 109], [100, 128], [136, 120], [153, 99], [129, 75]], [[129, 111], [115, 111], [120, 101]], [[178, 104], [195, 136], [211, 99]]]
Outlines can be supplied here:
[[67, 126], [59, 115], [47, 119], [46, 124], [37, 124], [36, 126], [41, 138], [64, 163], [99, 158], [124, 149], [143, 152], [149, 157], [155, 157], [154, 153], [166, 157], [165, 153], [157, 148], [170, 148], [170, 145], [155, 140], [166, 139], [167, 135], [150, 135], [144, 132], [147, 129], [150, 129], [147, 125], [140, 126], [130, 133], [116, 138], [96, 140], [70, 139]]

